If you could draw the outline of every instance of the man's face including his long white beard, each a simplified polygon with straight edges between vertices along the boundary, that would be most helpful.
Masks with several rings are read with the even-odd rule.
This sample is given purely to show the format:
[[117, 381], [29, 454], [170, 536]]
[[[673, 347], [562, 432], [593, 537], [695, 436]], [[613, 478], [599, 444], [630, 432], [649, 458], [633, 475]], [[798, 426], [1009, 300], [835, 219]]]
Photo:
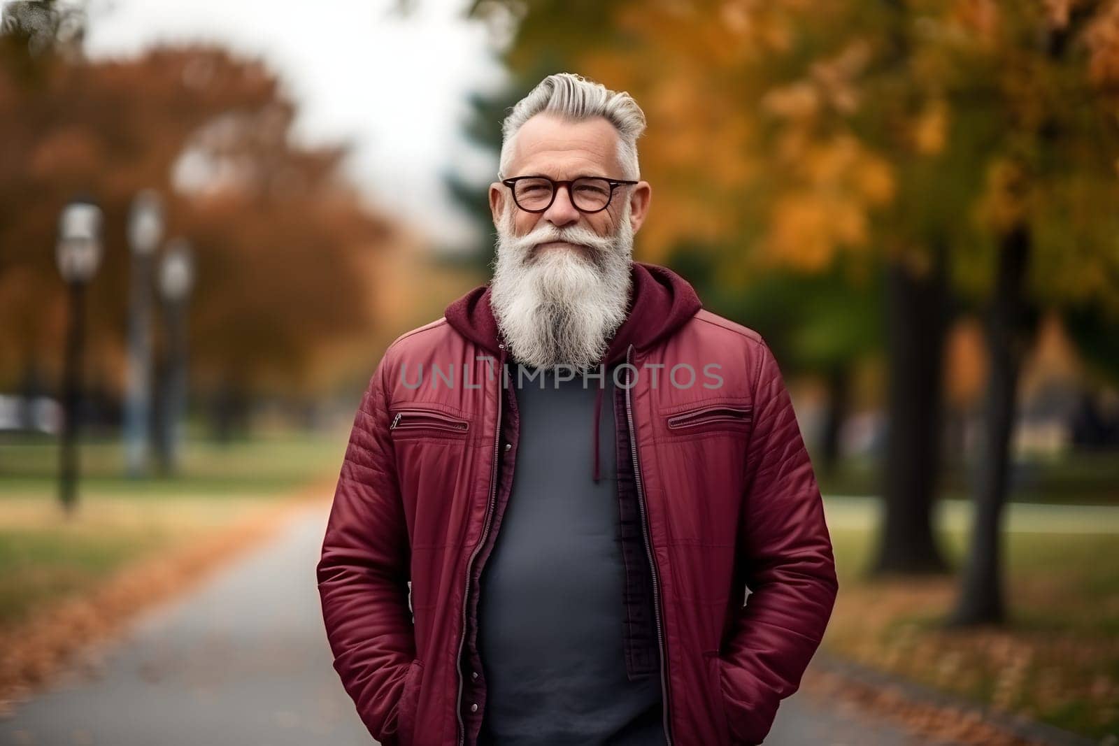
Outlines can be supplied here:
[[[604, 119], [537, 115], [515, 141], [510, 176], [620, 179], [618, 133]], [[633, 234], [647, 182], [615, 189], [598, 213], [575, 209], [566, 188], [544, 213], [527, 213], [502, 183], [490, 188], [497, 227], [490, 303], [513, 356], [532, 366], [591, 366], [626, 319]]]

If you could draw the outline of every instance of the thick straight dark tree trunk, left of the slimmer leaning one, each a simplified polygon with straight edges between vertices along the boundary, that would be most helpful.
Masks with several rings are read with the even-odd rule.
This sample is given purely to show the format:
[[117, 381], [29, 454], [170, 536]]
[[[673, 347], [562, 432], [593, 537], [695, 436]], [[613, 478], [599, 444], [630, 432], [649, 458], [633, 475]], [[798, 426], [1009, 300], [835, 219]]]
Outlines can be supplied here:
[[888, 424], [873, 575], [948, 570], [932, 527], [947, 294], [943, 247], [933, 256], [924, 276], [900, 262], [887, 267]]

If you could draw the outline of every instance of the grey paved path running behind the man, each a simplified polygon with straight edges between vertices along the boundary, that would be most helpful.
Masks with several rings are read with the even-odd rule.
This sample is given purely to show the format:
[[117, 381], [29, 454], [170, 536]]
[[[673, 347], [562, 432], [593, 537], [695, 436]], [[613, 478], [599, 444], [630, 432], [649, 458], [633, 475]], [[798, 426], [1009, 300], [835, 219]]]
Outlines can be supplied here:
[[[314, 565], [322, 506], [103, 649], [0, 720], [0, 744], [359, 746], [370, 744], [330, 664]], [[808, 692], [787, 699], [767, 746], [922, 746]]]

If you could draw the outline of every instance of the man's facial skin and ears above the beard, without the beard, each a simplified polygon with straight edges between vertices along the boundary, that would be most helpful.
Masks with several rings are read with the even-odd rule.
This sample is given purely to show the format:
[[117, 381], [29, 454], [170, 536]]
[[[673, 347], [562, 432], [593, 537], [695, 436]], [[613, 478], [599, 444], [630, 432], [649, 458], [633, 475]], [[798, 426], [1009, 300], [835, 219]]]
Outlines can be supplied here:
[[[525, 122], [517, 133], [508, 176], [547, 176], [554, 180], [580, 176], [624, 178], [618, 162], [618, 131], [601, 117], [568, 122], [551, 114], [538, 114]], [[518, 208], [509, 188], [499, 182], [490, 185], [489, 197], [496, 227], [511, 228], [509, 237], [539, 237], [524, 257], [532, 262], [546, 252], [574, 252], [593, 259], [592, 252], [577, 243], [579, 234], [609, 238], [618, 235], [623, 219], [628, 219], [630, 228], [637, 233], [645, 221], [651, 191], [647, 181], [619, 186], [610, 206], [591, 214], [575, 209], [565, 187], [556, 190], [555, 200], [544, 213]], [[624, 214], [627, 202], [628, 216]], [[557, 235], [566, 240], [549, 239]]]

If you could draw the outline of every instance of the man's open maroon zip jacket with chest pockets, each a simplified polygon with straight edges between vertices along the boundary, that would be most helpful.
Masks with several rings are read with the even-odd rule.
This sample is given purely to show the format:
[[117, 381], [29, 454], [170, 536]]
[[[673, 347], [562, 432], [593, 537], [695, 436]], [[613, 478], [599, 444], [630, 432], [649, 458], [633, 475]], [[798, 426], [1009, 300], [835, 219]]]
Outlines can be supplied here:
[[[627, 579], [652, 594], [666, 737], [760, 744], [838, 589], [819, 489], [761, 336], [665, 267], [632, 276], [604, 362], [628, 363], [619, 500], [640, 533], [623, 548], [651, 577]], [[485, 715], [479, 578], [517, 454], [506, 357], [476, 287], [388, 347], [355, 416], [317, 577], [335, 669], [388, 746], [473, 744]], [[627, 630], [631, 671], [641, 639]]]

